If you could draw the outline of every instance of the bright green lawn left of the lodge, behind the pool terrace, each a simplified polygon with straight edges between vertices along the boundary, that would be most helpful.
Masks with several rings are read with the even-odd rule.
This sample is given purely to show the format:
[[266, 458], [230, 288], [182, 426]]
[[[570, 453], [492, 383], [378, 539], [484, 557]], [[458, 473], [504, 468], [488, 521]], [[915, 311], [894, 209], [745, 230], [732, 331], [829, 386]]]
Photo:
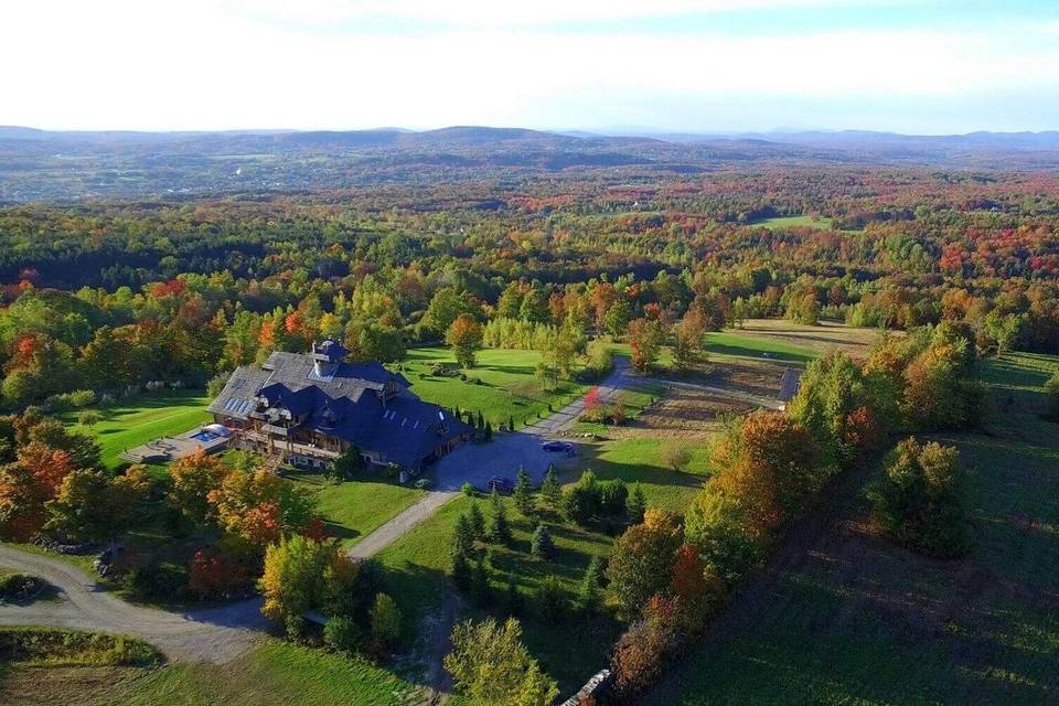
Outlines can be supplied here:
[[94, 437], [103, 449], [108, 468], [124, 463], [121, 452], [159, 437], [182, 434], [208, 422], [210, 397], [203, 391], [167, 391], [145, 393], [108, 407], [93, 407], [103, 419], [94, 426], [77, 424], [77, 413], [63, 415], [69, 428]]

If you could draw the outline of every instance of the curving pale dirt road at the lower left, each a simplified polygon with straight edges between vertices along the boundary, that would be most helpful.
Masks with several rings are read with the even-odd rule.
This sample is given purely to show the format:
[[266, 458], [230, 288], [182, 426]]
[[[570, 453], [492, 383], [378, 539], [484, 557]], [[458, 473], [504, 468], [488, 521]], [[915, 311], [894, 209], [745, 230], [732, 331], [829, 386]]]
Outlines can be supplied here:
[[0, 606], [0, 624], [54, 625], [141, 638], [170, 660], [224, 663], [248, 651], [269, 622], [260, 599], [185, 613], [133, 606], [106, 592], [69, 564], [0, 545], [0, 566], [39, 576], [62, 592], [57, 601]]

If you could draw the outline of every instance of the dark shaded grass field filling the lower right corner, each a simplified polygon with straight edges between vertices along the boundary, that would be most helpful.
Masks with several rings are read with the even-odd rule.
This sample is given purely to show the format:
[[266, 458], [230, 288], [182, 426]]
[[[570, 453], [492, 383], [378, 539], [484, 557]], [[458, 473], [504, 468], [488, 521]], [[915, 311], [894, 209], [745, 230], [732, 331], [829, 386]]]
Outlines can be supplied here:
[[1059, 425], [1035, 406], [1056, 368], [991, 361], [987, 434], [933, 437], [969, 471], [967, 557], [877, 536], [863, 488], [879, 468], [851, 471], [644, 703], [1059, 703]]

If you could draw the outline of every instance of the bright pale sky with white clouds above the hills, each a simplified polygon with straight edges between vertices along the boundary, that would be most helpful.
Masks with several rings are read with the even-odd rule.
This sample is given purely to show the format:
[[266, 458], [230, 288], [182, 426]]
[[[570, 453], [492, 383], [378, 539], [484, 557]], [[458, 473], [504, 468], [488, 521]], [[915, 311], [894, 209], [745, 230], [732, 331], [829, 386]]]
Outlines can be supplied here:
[[1059, 0], [3, 0], [0, 125], [1059, 129]]

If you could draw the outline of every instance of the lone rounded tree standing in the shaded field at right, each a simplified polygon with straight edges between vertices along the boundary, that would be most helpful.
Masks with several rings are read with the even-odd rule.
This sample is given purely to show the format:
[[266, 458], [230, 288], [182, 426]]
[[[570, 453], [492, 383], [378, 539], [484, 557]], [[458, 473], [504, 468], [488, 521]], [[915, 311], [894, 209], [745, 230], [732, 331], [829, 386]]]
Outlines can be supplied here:
[[966, 552], [969, 543], [963, 475], [954, 447], [908, 438], [886, 460], [869, 490], [873, 514], [901, 544], [933, 556]]

